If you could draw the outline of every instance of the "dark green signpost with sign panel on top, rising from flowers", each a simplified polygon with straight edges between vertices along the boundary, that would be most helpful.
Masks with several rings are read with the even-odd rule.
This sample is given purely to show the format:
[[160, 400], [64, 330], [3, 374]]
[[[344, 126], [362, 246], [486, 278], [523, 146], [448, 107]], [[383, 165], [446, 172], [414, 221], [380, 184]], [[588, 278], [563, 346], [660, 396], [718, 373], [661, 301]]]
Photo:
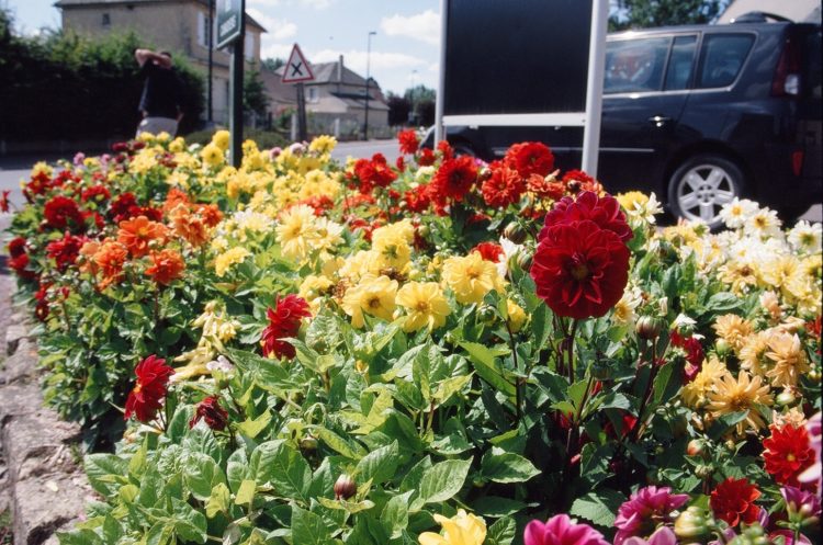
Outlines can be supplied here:
[[232, 45], [230, 91], [232, 110], [228, 132], [232, 135], [229, 157], [232, 166], [243, 162], [243, 46], [246, 37], [246, 0], [218, 0], [217, 48]]

